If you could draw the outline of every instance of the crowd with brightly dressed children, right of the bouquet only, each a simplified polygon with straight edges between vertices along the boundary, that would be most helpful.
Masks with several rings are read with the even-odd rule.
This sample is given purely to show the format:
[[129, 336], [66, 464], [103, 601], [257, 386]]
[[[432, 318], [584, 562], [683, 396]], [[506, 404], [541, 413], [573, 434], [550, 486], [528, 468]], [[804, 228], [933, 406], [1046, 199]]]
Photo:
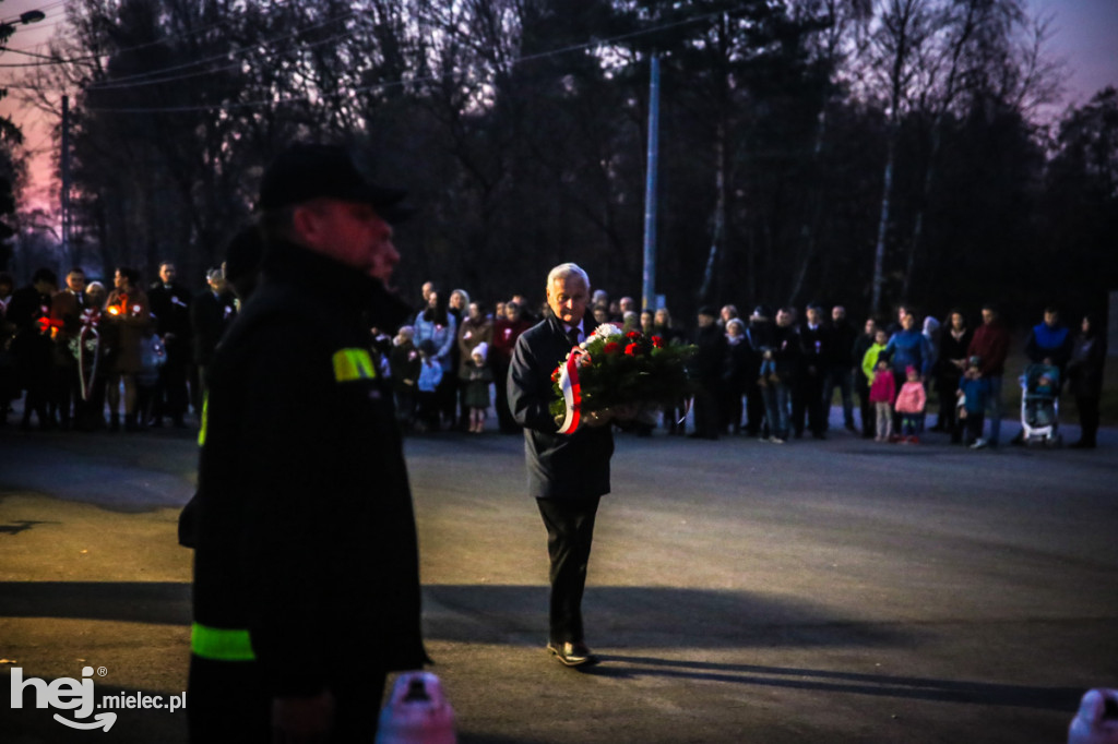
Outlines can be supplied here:
[[[931, 316], [921, 321], [913, 307], [901, 305], [896, 321], [871, 317], [861, 327], [842, 305], [830, 313], [808, 305], [802, 322], [797, 315], [795, 307], [774, 313], [764, 305], [748, 318], [739, 317], [733, 305], [699, 311], [693, 372], [701, 390], [691, 436], [743, 432], [784, 443], [809, 432], [824, 439], [837, 391], [851, 432], [917, 443], [935, 393], [938, 410], [928, 430], [974, 449], [998, 446], [1011, 334], [995, 305], [982, 308], [982, 323], [974, 328], [959, 308], [940, 323]], [[1106, 360], [1097, 321], [1084, 316], [1076, 333], [1049, 307], [1031, 328], [1024, 352], [1029, 363], [1053, 368], [1055, 394], [1070, 381], [1082, 429], [1072, 446], [1095, 447]], [[1021, 435], [1012, 441], [1022, 441]]]

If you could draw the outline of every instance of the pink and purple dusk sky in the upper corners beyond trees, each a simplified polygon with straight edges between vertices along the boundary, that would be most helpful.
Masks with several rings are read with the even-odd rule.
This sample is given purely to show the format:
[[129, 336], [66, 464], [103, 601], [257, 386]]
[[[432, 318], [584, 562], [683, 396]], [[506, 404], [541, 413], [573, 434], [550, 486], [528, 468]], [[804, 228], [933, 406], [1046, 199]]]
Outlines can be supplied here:
[[[1118, 0], [1026, 0], [1032, 13], [1052, 17], [1051, 51], [1067, 60], [1070, 78], [1064, 105], [1086, 103], [1091, 95], [1107, 85], [1118, 86]], [[38, 9], [46, 20], [21, 26], [12, 36], [9, 48], [45, 51], [46, 42], [63, 22], [66, 2], [61, 0], [0, 0], [0, 19], [12, 21], [27, 10]], [[0, 54], [0, 64], [31, 61], [16, 53]], [[0, 68], [0, 86], [18, 78], [21, 70]], [[27, 145], [38, 155], [35, 178], [28, 197], [35, 201], [54, 200], [49, 194], [48, 179], [41, 173], [49, 168], [51, 142], [49, 128], [35, 116], [20, 111], [17, 92], [0, 102], [0, 113], [12, 115], [23, 126]], [[1060, 107], [1062, 109], [1062, 106]]]

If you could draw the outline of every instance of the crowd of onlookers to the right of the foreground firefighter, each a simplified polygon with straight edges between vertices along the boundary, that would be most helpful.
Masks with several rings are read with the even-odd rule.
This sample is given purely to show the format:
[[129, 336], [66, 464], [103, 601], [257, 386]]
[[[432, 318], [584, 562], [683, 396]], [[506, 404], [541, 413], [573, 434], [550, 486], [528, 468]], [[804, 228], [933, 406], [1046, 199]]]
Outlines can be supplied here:
[[[382, 349], [390, 360], [401, 425], [419, 431], [481, 431], [477, 417], [484, 413], [479, 411], [489, 408], [492, 379], [499, 429], [519, 433], [501, 382], [517, 337], [538, 319], [533, 308], [518, 296], [490, 313], [464, 289], [452, 290], [444, 301], [432, 283], [421, 294], [426, 309], [390, 345], [386, 338]], [[953, 309], [941, 324], [935, 317], [921, 321], [911, 306], [902, 305], [896, 322], [869, 318], [856, 327], [841, 305], [830, 313], [809, 305], [802, 322], [794, 307], [774, 313], [760, 305], [743, 318], [727, 305], [720, 311], [701, 308], [689, 331], [676, 325], [666, 308], [637, 312], [631, 297], [612, 303], [599, 289], [590, 314], [595, 324], [614, 323], [666, 343], [695, 345], [693, 430], [688, 435], [686, 403], [680, 401], [664, 412], [669, 435], [746, 435], [784, 443], [807, 432], [824, 439], [837, 392], [845, 428], [865, 438], [919, 442], [928, 404], [935, 402], [938, 410], [929, 430], [974, 449], [1001, 441], [1011, 336], [992, 304], [982, 309], [975, 328], [961, 309]], [[1029, 334], [1029, 361], [1054, 366], [1060, 388], [1070, 381], [1082, 425], [1074, 447], [1096, 443], [1105, 343], [1092, 316], [1084, 316], [1076, 333], [1060, 323], [1054, 307]], [[651, 432], [646, 425], [634, 428], [638, 436]]]

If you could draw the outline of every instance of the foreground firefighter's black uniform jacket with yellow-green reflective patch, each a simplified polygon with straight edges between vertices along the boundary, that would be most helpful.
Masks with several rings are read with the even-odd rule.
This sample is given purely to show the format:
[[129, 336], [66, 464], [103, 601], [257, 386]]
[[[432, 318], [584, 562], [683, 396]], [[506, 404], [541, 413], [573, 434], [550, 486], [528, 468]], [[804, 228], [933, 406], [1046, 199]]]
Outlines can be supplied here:
[[278, 245], [215, 354], [183, 525], [195, 622], [247, 629], [273, 695], [426, 660], [400, 436], [368, 352], [370, 323], [401, 309], [379, 282]]

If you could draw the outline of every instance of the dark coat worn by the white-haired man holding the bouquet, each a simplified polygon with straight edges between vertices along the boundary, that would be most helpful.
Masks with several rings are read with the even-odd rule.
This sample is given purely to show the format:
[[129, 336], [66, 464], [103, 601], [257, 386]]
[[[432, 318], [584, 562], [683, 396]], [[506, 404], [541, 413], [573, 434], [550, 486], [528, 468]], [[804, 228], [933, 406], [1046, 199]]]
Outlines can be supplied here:
[[[589, 331], [589, 322], [582, 323]], [[528, 494], [536, 498], [591, 498], [609, 493], [612, 428], [584, 426], [572, 435], [561, 435], [548, 410], [555, 399], [551, 373], [569, 351], [562, 323], [549, 316], [517, 340], [509, 368], [509, 408], [524, 427]]]

